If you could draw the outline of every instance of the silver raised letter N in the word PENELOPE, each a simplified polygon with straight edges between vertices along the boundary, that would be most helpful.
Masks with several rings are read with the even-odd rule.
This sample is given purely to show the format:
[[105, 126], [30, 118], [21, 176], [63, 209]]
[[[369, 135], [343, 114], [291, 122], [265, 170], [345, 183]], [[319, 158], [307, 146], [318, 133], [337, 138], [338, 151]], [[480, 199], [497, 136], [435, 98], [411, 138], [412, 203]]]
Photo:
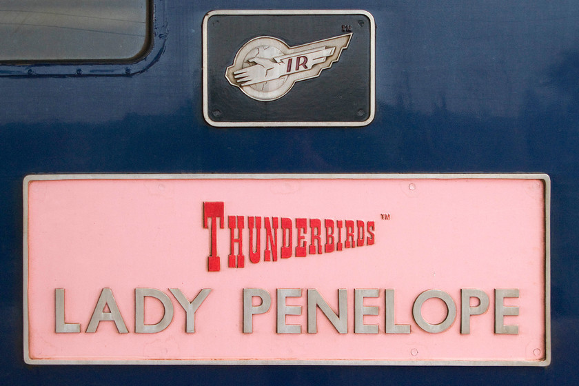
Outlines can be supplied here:
[[338, 290], [338, 315], [327, 305], [318, 290], [307, 290], [307, 332], [318, 332], [317, 307], [320, 307], [326, 318], [334, 325], [340, 334], [348, 332], [348, 298], [347, 290]]

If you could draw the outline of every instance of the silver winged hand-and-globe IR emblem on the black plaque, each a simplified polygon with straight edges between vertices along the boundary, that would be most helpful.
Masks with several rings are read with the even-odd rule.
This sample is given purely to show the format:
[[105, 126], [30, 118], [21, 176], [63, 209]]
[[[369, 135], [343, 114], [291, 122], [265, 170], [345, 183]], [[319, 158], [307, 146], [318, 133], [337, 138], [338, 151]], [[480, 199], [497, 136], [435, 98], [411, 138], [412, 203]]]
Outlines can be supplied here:
[[225, 77], [257, 101], [274, 101], [294, 83], [320, 76], [348, 48], [352, 34], [290, 47], [274, 37], [256, 37], [235, 55]]

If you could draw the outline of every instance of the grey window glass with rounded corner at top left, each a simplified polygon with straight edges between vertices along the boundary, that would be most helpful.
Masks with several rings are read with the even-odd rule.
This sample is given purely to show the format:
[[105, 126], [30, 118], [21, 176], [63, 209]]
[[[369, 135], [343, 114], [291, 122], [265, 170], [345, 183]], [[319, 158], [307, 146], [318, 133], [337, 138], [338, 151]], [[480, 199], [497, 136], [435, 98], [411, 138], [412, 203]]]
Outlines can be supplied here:
[[148, 46], [148, 0], [0, 0], [0, 61], [131, 59]]

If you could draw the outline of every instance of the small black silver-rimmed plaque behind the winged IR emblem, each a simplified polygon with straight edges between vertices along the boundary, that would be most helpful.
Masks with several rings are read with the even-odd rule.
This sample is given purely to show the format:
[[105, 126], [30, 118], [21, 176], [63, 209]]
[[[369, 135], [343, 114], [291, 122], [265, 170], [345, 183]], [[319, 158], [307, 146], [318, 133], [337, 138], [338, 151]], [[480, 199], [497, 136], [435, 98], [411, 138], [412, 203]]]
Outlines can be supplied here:
[[[214, 11], [203, 33], [203, 114], [211, 125], [362, 126], [374, 118], [374, 19], [365, 11]], [[346, 34], [347, 48], [331, 67], [295, 81], [278, 99], [253, 99], [225, 76], [252, 39], [272, 37], [307, 50]]]

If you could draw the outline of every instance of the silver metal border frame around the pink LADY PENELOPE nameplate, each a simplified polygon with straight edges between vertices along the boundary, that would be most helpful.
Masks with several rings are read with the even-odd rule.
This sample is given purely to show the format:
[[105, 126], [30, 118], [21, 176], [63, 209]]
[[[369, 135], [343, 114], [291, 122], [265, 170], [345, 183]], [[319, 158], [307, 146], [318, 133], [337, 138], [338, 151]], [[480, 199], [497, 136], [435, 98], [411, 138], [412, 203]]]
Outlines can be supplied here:
[[[38, 360], [28, 342], [28, 184], [32, 181], [145, 179], [509, 179], [541, 180], [545, 186], [545, 359], [544, 360]], [[547, 174], [31, 174], [23, 180], [23, 354], [29, 365], [387, 365], [531, 366], [551, 363], [551, 179]]]

